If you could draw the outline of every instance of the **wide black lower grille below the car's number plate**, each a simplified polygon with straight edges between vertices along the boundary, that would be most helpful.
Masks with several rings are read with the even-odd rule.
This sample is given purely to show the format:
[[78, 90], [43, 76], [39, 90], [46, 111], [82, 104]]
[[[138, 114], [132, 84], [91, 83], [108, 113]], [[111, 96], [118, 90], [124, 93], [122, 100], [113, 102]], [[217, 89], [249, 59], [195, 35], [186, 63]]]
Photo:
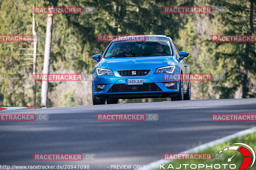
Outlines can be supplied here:
[[[136, 88], [135, 88], [136, 87]], [[114, 84], [107, 93], [162, 91], [155, 83], [139, 85]]]

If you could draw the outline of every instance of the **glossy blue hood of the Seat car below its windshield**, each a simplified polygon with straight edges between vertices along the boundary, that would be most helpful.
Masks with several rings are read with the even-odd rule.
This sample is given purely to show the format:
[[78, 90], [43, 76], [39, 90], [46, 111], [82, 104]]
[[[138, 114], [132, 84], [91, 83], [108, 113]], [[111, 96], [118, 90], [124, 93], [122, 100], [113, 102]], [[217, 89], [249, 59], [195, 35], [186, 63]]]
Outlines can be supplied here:
[[175, 56], [102, 58], [99, 64], [111, 70], [154, 69], [168, 66], [174, 60]]

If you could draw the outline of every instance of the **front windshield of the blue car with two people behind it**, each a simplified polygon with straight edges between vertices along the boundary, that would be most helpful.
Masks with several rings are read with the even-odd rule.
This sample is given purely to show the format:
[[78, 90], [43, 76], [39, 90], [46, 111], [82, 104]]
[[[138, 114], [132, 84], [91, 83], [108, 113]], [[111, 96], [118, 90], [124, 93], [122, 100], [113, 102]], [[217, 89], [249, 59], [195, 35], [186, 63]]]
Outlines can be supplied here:
[[172, 55], [169, 40], [112, 42], [104, 58]]

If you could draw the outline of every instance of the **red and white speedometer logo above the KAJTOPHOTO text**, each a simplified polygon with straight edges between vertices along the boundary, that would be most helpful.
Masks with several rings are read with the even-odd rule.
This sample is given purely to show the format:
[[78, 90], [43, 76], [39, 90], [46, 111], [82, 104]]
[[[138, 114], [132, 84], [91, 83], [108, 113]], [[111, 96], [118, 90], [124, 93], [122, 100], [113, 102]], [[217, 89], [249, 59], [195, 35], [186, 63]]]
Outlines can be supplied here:
[[[226, 152], [229, 150], [237, 151], [232, 157], [228, 158], [227, 161], [231, 162], [232, 158], [234, 158], [237, 155], [237, 153], [240, 152], [243, 156], [243, 162], [238, 169], [247, 169], [251, 165], [249, 167], [249, 169], [250, 169], [255, 162], [255, 152], [252, 149], [252, 147], [247, 144], [244, 144], [244, 143], [234, 143], [231, 145], [235, 145], [235, 146], [226, 147], [226, 148], [222, 149], [219, 153]], [[248, 149], [245, 148], [244, 146], [246, 146]], [[219, 153], [217, 153], [212, 159], [214, 159], [217, 155], [219, 155]]]

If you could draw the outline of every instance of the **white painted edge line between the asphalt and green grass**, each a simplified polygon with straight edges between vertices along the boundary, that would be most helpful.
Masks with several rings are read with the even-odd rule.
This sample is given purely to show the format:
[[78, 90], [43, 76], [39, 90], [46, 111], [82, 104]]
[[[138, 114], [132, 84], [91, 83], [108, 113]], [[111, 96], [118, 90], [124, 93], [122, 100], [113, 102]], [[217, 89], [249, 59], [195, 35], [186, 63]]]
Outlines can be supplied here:
[[[206, 144], [203, 144], [203, 145], [200, 145], [200, 146], [197, 146], [195, 148], [192, 148], [192, 149], [189, 149], [187, 151], [184, 151], [184, 152], [180, 152], [180, 153], [193, 153], [193, 152], [200, 152], [204, 149], [207, 149], [209, 147], [212, 147], [212, 146], [216, 146], [218, 144], [221, 144], [221, 143], [224, 143], [224, 142], [227, 142], [228, 140], [231, 140], [231, 139], [234, 139], [234, 138], [237, 138], [237, 137], [241, 137], [241, 136], [244, 136], [244, 135], [247, 135], [249, 133], [252, 133], [252, 132], [255, 132], [256, 131], [256, 126], [255, 127], [252, 127], [250, 129], [247, 129], [247, 130], [244, 130], [244, 131], [240, 131], [240, 132], [237, 132], [233, 135], [229, 135], [229, 136], [226, 136], [224, 138], [221, 138], [221, 139], [217, 139], [217, 140], [214, 140], [212, 142], [208, 142]], [[148, 165], [145, 166], [145, 169], [147, 170], [154, 170], [154, 169], [159, 169], [159, 165], [160, 164], [168, 164], [172, 162], [172, 160], [164, 160], [164, 159], [160, 159], [160, 160], [157, 160], [155, 162], [152, 162]], [[135, 169], [135, 170], [139, 170], [139, 169]]]

